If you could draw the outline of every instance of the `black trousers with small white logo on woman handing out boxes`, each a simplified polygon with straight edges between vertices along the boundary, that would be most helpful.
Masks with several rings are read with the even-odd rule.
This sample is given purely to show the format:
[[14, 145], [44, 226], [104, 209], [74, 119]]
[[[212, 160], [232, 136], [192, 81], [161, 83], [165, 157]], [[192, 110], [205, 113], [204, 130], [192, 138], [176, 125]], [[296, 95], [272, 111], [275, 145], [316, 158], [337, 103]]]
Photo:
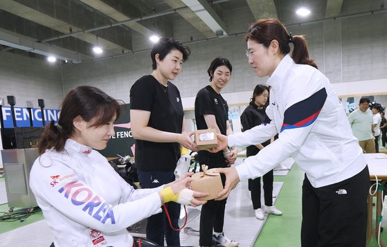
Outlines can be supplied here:
[[368, 167], [339, 183], [312, 187], [303, 182], [301, 246], [366, 246]]

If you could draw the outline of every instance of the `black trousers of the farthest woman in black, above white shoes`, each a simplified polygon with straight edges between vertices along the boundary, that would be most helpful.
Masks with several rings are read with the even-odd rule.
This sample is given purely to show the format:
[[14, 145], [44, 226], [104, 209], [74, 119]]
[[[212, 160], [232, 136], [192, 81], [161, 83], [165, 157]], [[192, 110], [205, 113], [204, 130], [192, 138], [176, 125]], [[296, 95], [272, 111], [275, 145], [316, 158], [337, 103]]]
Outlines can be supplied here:
[[[262, 177], [264, 205], [273, 205], [273, 170], [267, 172]], [[261, 178], [249, 179], [249, 190], [254, 210], [261, 208]]]

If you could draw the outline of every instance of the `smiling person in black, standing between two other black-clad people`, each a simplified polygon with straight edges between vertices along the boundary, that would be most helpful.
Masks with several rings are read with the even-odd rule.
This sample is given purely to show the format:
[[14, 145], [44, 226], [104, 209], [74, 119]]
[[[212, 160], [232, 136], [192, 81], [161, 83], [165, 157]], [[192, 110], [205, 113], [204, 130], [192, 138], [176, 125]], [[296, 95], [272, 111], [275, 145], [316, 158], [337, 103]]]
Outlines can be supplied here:
[[[212, 128], [217, 133], [233, 134], [230, 121], [228, 120], [228, 105], [220, 92], [228, 84], [233, 67], [231, 63], [222, 57], [217, 57], [208, 68], [210, 84], [200, 89], [195, 99], [195, 120], [197, 129]], [[208, 168], [231, 166], [237, 158], [237, 149], [231, 150], [224, 147], [216, 154], [206, 150], [198, 152], [199, 164], [208, 165]], [[224, 177], [223, 177], [224, 181]], [[224, 235], [224, 210], [226, 199], [222, 201], [210, 200], [201, 207], [199, 245], [211, 246], [238, 246], [236, 241], [228, 239]]]

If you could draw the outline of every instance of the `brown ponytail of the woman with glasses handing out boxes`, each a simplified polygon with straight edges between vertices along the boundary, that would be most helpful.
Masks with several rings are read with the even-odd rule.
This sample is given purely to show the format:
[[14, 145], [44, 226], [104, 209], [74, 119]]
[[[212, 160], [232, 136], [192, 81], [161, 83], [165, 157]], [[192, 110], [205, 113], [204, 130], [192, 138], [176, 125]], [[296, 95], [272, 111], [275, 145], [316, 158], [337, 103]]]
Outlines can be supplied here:
[[307, 42], [305, 38], [301, 35], [296, 35], [291, 37], [289, 40], [291, 40], [294, 45], [293, 52], [291, 53], [291, 58], [293, 58], [294, 62], [296, 64], [307, 64], [317, 68], [317, 64], [314, 62], [314, 60], [309, 58]]

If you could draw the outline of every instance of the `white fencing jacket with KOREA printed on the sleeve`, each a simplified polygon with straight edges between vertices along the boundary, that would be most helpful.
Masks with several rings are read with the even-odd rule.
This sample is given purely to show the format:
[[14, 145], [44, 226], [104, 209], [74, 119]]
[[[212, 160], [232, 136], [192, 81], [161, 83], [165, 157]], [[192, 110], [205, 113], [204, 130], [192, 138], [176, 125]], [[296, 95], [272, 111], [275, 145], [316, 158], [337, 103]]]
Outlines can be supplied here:
[[47, 150], [30, 172], [30, 187], [55, 247], [132, 246], [126, 228], [161, 207], [162, 187], [134, 190], [100, 153], [68, 139]]

